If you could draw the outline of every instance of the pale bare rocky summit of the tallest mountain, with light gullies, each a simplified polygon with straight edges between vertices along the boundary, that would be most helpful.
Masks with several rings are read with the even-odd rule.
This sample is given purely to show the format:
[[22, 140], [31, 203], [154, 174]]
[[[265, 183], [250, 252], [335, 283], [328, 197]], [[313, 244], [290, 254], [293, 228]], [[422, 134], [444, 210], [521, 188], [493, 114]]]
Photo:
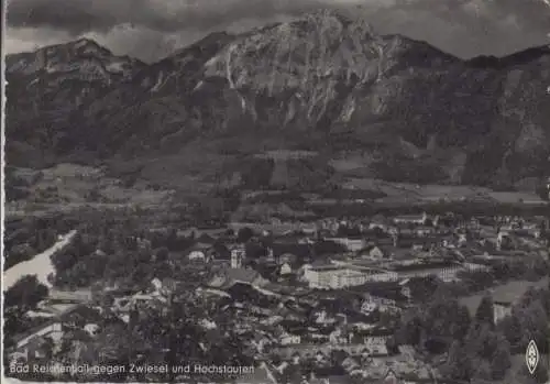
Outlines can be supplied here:
[[426, 43], [380, 35], [363, 19], [320, 10], [235, 36], [206, 63], [205, 75], [224, 78], [252, 116], [261, 114], [263, 98], [276, 99], [286, 116], [280, 124], [317, 127], [350, 92], [453, 61]]

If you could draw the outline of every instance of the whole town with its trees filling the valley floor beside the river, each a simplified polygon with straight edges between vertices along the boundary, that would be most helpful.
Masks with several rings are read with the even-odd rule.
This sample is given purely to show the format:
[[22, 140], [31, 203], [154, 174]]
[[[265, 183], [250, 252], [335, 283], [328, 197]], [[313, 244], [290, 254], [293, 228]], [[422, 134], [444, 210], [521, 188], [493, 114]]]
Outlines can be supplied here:
[[[40, 241], [63, 242], [46, 256], [53, 271], [7, 282], [11, 376], [548, 380], [548, 216], [383, 210], [154, 228], [158, 215], [145, 209], [70, 215], [33, 221]], [[24, 232], [7, 238], [12, 251], [21, 239], [36, 246]], [[531, 340], [540, 354], [534, 374], [525, 363]], [[33, 377], [18, 366], [48, 369]]]

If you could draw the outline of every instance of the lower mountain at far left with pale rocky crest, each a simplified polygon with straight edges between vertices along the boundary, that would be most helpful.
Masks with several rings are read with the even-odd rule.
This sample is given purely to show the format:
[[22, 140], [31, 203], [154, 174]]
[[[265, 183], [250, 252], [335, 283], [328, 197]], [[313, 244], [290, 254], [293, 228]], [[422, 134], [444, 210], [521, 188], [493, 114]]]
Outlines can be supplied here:
[[[144, 63], [116, 56], [87, 39], [8, 56], [8, 155], [24, 160], [37, 152], [36, 156], [44, 156], [63, 145], [70, 125], [81, 123], [80, 109], [143, 67]], [[18, 153], [16, 142], [35, 151], [25, 145], [24, 153]]]

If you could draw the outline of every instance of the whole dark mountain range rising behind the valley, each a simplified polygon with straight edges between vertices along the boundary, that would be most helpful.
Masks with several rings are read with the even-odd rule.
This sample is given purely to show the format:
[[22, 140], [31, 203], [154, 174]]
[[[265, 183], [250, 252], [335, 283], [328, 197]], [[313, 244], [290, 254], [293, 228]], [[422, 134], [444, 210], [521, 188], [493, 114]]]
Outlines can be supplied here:
[[145, 64], [91, 40], [7, 57], [7, 163], [206, 188], [550, 176], [550, 47], [464, 61], [336, 11]]

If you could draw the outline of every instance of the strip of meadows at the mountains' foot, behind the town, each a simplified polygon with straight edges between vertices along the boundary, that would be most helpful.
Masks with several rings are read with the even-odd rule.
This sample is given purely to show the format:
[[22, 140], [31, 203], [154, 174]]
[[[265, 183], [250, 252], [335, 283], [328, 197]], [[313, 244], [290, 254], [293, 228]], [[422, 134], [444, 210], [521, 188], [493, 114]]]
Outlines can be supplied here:
[[[260, 172], [255, 162], [262, 158], [275, 158], [278, 168], [276, 172], [277, 186], [283, 190], [261, 190], [250, 184], [250, 174]], [[320, 156], [320, 157], [319, 157]], [[306, 163], [294, 164], [293, 162]], [[317, 205], [338, 206], [354, 202], [365, 202], [380, 206], [425, 205], [433, 202], [474, 201], [483, 204], [513, 204], [537, 205], [543, 201], [535, 194], [526, 191], [493, 191], [490, 188], [460, 185], [417, 185], [413, 183], [384, 182], [373, 177], [342, 176], [353, 167], [361, 168], [362, 157], [332, 161], [330, 164], [336, 172], [322, 169], [322, 155], [314, 151], [274, 151], [266, 150], [256, 153], [256, 156], [239, 157], [232, 154], [212, 154], [200, 149], [188, 147], [185, 154], [164, 155], [156, 158], [140, 158], [138, 161], [113, 161], [105, 167], [91, 167], [77, 164], [58, 164], [45, 169], [11, 168], [11, 180], [15, 184], [21, 196], [12, 199], [15, 204], [7, 206], [8, 212], [25, 215], [34, 208], [33, 205], [57, 205], [59, 209], [78, 205], [148, 205], [158, 206], [179, 199], [204, 198], [220, 187], [240, 188], [243, 201], [251, 198], [254, 204], [277, 202], [285, 204], [283, 213], [290, 217], [308, 216], [309, 208], [300, 206], [282, 196], [279, 201], [275, 196], [262, 198], [255, 195], [277, 195], [288, 193], [288, 188], [301, 195], [302, 199]], [[280, 163], [286, 166], [282, 167]], [[263, 169], [263, 168], [262, 168]], [[280, 171], [279, 169], [279, 171]], [[340, 173], [340, 175], [339, 175]], [[349, 173], [348, 173], [349, 174]], [[307, 178], [309, 177], [309, 178]], [[272, 175], [273, 182], [274, 176]], [[339, 186], [340, 193], [330, 194], [326, 188], [326, 179]], [[248, 182], [246, 182], [248, 180]], [[300, 182], [301, 180], [301, 182]], [[249, 183], [249, 184], [246, 184]], [[257, 183], [256, 183], [257, 184]], [[304, 185], [301, 185], [304, 184]], [[244, 190], [250, 186], [248, 190]], [[270, 186], [264, 186], [270, 188]], [[308, 189], [311, 189], [309, 190]], [[306, 189], [304, 189], [306, 188]], [[309, 190], [310, 196], [305, 196]], [[256, 201], [257, 200], [257, 201]], [[299, 201], [298, 201], [299, 202]], [[23, 207], [24, 206], [24, 207]], [[290, 208], [288, 208], [290, 207]], [[246, 207], [245, 210], [251, 210]], [[252, 216], [276, 215], [278, 207], [263, 207], [252, 209]]]

